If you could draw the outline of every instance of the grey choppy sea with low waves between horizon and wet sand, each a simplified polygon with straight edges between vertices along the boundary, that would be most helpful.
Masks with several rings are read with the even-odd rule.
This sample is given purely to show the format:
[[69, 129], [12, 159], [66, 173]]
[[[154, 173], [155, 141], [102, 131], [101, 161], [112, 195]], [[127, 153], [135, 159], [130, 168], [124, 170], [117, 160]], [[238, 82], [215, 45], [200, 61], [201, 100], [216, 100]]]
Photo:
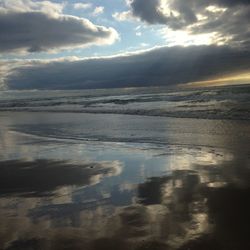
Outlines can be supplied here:
[[[150, 91], [150, 89], [148, 90]], [[250, 87], [127, 93], [36, 91], [0, 96], [0, 111], [79, 112], [203, 119], [250, 119]]]

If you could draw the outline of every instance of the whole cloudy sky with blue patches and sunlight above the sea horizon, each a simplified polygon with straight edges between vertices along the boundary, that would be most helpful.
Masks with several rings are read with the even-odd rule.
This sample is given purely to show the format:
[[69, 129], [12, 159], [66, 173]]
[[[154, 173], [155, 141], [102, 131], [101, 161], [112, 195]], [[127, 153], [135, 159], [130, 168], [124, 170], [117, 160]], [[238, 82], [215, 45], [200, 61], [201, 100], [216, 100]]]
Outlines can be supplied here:
[[249, 0], [0, 0], [0, 89], [250, 82]]

